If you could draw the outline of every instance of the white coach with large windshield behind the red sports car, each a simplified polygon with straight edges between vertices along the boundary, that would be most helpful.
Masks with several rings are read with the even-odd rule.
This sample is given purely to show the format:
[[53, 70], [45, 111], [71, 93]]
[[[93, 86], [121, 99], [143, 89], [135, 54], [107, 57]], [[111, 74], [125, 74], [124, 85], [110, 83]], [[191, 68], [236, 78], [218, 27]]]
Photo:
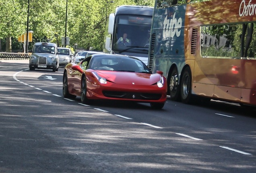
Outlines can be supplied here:
[[[119, 6], [109, 15], [105, 49], [111, 54], [134, 56], [148, 63], [153, 7]], [[119, 38], [127, 35], [128, 42]]]

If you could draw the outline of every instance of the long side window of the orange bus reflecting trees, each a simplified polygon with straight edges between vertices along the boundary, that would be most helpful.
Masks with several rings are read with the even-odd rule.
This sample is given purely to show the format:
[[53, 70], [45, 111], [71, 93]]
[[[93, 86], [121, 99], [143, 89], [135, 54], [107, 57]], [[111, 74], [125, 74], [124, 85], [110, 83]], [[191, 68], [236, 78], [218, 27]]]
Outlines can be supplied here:
[[[253, 27], [250, 33], [250, 27]], [[244, 28], [244, 29], [243, 29]], [[202, 26], [202, 37], [212, 38], [214, 44], [201, 43], [202, 57], [208, 58], [256, 58], [256, 24], [231, 24]], [[243, 32], [243, 30], [245, 32]], [[244, 36], [242, 34], [244, 33]], [[247, 43], [247, 44], [246, 44]]]

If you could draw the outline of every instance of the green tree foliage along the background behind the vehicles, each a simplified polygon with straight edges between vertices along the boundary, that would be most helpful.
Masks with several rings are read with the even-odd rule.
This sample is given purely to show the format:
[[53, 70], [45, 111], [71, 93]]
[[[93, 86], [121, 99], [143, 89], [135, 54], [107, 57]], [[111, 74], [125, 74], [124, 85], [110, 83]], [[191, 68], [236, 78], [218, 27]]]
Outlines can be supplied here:
[[[34, 42], [55, 42], [61, 46], [66, 26], [71, 47], [78, 44], [78, 48], [102, 51], [106, 16], [117, 6], [153, 6], [154, 3], [155, 0], [116, 0], [114, 3], [110, 0], [30, 0], [29, 31], [33, 31], [33, 42], [29, 47]], [[0, 39], [12, 37], [17, 41], [26, 33], [27, 9], [28, 0], [0, 0]]]

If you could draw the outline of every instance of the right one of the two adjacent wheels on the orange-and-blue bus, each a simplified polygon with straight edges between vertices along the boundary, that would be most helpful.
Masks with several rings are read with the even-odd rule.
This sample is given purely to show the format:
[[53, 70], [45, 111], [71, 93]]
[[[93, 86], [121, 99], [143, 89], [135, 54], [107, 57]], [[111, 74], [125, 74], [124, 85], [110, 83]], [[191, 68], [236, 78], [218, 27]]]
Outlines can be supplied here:
[[191, 71], [189, 67], [184, 69], [181, 78], [181, 91], [180, 97], [183, 103], [190, 103], [191, 102]]

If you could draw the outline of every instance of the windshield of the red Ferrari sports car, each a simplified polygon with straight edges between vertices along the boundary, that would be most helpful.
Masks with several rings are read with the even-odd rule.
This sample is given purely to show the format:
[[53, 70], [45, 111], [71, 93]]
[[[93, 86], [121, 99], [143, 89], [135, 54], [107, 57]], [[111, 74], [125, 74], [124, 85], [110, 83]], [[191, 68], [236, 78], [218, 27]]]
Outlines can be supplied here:
[[150, 69], [141, 61], [124, 56], [95, 56], [91, 60], [91, 69], [151, 73]]

